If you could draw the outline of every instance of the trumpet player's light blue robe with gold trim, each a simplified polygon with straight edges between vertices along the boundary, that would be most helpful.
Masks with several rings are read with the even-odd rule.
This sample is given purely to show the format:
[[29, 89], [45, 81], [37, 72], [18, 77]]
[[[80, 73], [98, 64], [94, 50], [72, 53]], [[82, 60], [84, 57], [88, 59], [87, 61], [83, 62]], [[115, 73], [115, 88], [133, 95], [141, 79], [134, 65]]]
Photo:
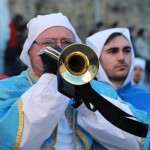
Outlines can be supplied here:
[[[19, 76], [7, 78], [0, 81], [0, 150], [12, 150], [18, 149], [19, 147], [23, 130], [23, 112], [22, 101], [20, 97], [31, 87], [26, 77], [26, 73], [28, 73], [28, 71], [22, 72]], [[37, 78], [35, 78], [30, 73], [29, 76], [32, 82], [36, 83]], [[95, 80], [91, 81], [91, 85], [93, 89], [95, 89], [95, 91], [97, 91], [99, 94], [103, 94], [117, 100], [117, 93], [110, 85]], [[71, 102], [72, 101], [70, 101], [70, 104], [67, 108], [69, 110], [69, 113], [66, 113], [67, 118], [68, 116], [72, 118]], [[126, 104], [129, 105], [128, 103]], [[130, 108], [133, 114], [140, 121], [143, 121], [145, 123], [148, 122], [146, 113], [136, 110], [133, 106], [130, 106]], [[84, 143], [86, 149], [106, 150], [106, 148], [94, 141], [84, 129], [82, 129], [78, 124], [76, 125], [79, 131], [83, 134], [84, 140], [86, 141], [86, 143], [88, 143]], [[48, 139], [45, 139], [45, 144], [52, 144], [54, 137], [53, 135], [57, 134], [57, 132], [55, 131], [50, 135]], [[82, 137], [80, 138], [83, 141]], [[146, 142], [147, 141], [145, 141], [145, 145], [147, 145]]]

